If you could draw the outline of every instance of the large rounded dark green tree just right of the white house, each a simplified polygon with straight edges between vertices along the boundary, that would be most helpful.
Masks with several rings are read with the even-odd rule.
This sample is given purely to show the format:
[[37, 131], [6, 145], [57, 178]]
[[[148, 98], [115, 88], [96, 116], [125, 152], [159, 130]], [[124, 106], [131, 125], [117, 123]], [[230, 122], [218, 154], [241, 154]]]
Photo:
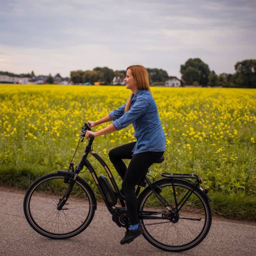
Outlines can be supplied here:
[[[189, 67], [190, 67], [189, 72], [186, 72], [186, 70]], [[200, 77], [198, 78], [198, 80], [194, 80], [196, 72], [194, 69], [193, 69], [194, 71], [192, 72], [191, 68], [194, 68], [199, 72]], [[186, 84], [190, 84], [188, 81], [194, 80], [194, 81], [197, 81], [199, 84], [206, 86], [208, 84], [208, 76], [210, 74], [210, 68], [206, 63], [204, 63], [199, 58], [188, 59], [186, 61], [185, 65], [180, 65], [180, 73], [182, 75], [181, 78], [183, 78], [185, 80]], [[193, 76], [194, 76], [193, 79], [188, 78], [189, 73], [193, 74]]]

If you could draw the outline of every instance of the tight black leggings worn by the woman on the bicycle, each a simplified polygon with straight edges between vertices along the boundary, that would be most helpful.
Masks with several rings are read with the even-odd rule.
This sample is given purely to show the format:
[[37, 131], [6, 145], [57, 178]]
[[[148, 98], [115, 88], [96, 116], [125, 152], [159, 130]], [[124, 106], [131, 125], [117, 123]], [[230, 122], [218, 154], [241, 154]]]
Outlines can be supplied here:
[[[110, 161], [123, 180], [122, 190], [125, 196], [126, 207], [131, 218], [131, 225], [139, 223], [138, 202], [134, 188], [138, 181], [146, 175], [148, 168], [164, 154], [164, 151], [147, 151], [132, 156], [132, 149], [135, 143], [136, 142], [131, 142], [113, 148], [108, 153]], [[122, 159], [132, 159], [128, 168]]]

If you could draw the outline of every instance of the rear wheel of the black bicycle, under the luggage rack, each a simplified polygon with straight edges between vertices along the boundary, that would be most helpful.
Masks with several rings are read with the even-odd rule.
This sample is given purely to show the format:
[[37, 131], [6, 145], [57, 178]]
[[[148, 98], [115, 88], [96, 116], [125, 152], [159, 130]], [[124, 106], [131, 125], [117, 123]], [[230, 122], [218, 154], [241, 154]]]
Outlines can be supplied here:
[[[212, 210], [204, 192], [184, 180], [156, 181], [159, 194], [169, 203], [165, 207], [148, 187], [139, 199], [143, 236], [157, 248], [180, 252], [199, 244], [210, 230]], [[176, 209], [176, 203], [178, 209]]]

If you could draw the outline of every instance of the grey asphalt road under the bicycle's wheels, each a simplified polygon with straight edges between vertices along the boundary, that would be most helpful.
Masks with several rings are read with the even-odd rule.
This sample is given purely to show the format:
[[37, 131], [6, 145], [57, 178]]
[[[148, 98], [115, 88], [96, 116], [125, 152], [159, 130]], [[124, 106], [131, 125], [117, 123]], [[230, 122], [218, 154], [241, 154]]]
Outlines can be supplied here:
[[24, 195], [24, 191], [0, 187], [0, 255], [256, 255], [255, 222], [216, 216], [204, 241], [189, 251], [164, 252], [149, 244], [143, 236], [130, 244], [120, 245], [125, 229], [116, 226], [105, 205], [99, 202], [94, 219], [84, 232], [67, 240], [52, 240], [29, 226], [23, 213]]

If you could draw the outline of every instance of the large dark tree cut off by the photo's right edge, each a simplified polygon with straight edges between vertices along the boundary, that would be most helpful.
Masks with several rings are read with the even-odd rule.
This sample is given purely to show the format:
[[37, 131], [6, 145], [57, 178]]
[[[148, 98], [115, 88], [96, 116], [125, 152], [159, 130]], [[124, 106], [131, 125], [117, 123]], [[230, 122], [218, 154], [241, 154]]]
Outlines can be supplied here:
[[237, 62], [235, 70], [235, 80], [239, 87], [256, 88], [256, 60]]

